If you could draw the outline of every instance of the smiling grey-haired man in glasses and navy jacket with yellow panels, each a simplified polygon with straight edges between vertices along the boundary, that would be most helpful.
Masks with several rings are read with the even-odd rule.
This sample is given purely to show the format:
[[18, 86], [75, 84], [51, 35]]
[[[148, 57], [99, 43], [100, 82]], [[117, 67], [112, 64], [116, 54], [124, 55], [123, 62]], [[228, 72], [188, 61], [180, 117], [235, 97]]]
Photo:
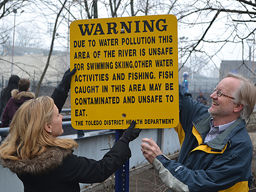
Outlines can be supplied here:
[[177, 162], [165, 157], [151, 138], [142, 139], [144, 157], [172, 192], [244, 192], [251, 187], [253, 147], [246, 120], [254, 110], [256, 89], [243, 76], [229, 73], [210, 98], [209, 108], [179, 85]]

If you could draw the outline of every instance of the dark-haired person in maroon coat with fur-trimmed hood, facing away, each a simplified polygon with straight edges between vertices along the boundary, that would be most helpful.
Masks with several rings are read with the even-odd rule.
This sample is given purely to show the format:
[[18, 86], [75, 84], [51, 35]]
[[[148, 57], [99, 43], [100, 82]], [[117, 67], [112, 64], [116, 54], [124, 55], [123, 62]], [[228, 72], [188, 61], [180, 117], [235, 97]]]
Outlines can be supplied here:
[[35, 94], [29, 92], [30, 80], [29, 79], [20, 79], [18, 82], [18, 90], [12, 90], [12, 98], [7, 102], [4, 113], [2, 114], [2, 126], [9, 127], [10, 122], [12, 121], [13, 115], [16, 110], [27, 100], [34, 99]]

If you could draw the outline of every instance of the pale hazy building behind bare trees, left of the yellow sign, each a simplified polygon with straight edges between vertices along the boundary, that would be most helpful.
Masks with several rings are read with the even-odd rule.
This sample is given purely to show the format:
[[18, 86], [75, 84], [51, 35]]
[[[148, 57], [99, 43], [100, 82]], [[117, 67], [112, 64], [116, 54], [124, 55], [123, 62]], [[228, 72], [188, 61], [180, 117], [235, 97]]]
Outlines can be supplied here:
[[[13, 71], [11, 69], [12, 46], [7, 46], [6, 44], [2, 45], [0, 55], [0, 89], [7, 85], [12, 73], [18, 75], [20, 78], [29, 79], [31, 82], [30, 90], [35, 91], [46, 66], [49, 49], [13, 46]], [[61, 49], [52, 51], [49, 67], [41, 86], [56, 87], [68, 67], [69, 52]]]

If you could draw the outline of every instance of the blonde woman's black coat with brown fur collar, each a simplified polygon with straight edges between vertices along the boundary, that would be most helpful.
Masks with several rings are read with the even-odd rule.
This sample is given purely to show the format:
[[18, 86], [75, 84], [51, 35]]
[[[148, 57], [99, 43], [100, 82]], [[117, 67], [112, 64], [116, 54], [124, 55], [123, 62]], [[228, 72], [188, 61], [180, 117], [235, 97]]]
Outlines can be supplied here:
[[[66, 97], [57, 89], [52, 94], [59, 111]], [[99, 161], [77, 157], [71, 149], [49, 147], [44, 154], [31, 160], [1, 159], [1, 163], [17, 174], [25, 192], [79, 192], [79, 183], [104, 182], [130, 157], [128, 144], [119, 140]]]

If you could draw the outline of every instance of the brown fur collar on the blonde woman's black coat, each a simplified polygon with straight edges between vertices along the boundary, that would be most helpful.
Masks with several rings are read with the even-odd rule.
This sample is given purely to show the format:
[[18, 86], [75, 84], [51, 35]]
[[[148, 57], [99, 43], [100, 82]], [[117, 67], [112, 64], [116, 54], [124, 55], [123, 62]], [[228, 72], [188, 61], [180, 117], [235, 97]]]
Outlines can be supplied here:
[[72, 149], [50, 146], [48, 151], [33, 159], [15, 161], [0, 157], [0, 162], [4, 168], [9, 168], [16, 174], [40, 175], [62, 165], [63, 159], [72, 153]]

